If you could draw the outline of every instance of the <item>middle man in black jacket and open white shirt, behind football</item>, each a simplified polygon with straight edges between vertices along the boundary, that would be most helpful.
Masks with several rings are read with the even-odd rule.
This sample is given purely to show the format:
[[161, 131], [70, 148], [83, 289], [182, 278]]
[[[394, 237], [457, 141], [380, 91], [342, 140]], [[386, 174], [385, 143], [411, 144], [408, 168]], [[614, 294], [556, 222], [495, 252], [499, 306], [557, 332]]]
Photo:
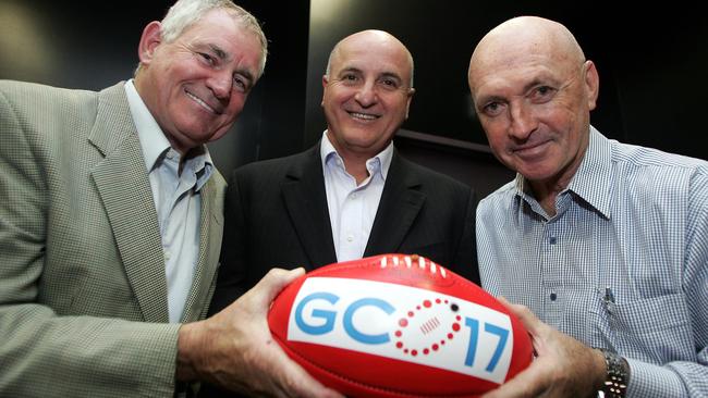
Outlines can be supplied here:
[[322, 77], [327, 130], [309, 150], [237, 169], [227, 192], [222, 266], [210, 311], [272, 266], [417, 253], [478, 283], [475, 197], [393, 148], [413, 98], [413, 58], [381, 30], [334, 46]]

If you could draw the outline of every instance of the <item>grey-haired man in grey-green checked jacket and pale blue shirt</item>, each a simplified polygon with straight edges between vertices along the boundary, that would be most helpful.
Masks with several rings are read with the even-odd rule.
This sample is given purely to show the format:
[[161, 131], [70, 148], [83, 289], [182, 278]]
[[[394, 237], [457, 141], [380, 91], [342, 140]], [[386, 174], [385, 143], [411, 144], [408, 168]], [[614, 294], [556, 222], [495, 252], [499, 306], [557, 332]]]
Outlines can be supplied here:
[[[223, 0], [180, 0], [100, 92], [0, 83], [0, 396], [168, 397], [185, 382], [332, 395], [272, 343], [274, 270], [212, 319], [220, 138], [266, 38]], [[198, 321], [198, 322], [197, 322]]]

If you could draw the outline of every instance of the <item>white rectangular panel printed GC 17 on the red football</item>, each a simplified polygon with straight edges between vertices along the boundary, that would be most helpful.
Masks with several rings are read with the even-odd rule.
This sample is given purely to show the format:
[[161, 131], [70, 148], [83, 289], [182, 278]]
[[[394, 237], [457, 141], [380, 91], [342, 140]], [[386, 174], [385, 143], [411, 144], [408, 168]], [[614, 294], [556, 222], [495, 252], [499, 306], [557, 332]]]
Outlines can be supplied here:
[[501, 384], [511, 361], [509, 315], [416, 287], [310, 277], [290, 313], [288, 339], [468, 374]]

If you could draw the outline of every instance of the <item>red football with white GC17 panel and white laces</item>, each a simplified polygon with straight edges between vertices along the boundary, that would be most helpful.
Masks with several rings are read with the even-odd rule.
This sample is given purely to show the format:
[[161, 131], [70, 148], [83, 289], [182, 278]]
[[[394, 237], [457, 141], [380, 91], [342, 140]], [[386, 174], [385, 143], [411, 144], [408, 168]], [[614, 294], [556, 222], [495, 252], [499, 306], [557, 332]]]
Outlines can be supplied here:
[[350, 397], [474, 397], [533, 358], [501, 302], [419, 256], [312, 271], [273, 300], [268, 323], [294, 361]]

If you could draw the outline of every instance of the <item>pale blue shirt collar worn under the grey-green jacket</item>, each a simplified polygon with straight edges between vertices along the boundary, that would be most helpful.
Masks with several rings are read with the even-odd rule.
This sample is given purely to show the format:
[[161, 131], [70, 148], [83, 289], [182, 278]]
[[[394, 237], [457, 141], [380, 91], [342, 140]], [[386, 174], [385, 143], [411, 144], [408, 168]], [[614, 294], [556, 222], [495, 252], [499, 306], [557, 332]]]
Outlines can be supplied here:
[[[125, 95], [127, 96], [127, 103], [131, 109], [131, 115], [137, 129], [137, 138], [141, 141], [143, 149], [143, 158], [145, 160], [145, 167], [149, 173], [152, 169], [161, 162], [164, 154], [172, 148], [170, 141], [164, 136], [164, 133], [157, 124], [157, 121], [147, 109], [147, 105], [141, 98], [141, 95], [135, 89], [133, 79], [125, 82]], [[203, 145], [196, 150], [194, 156], [194, 172], [197, 175], [197, 184], [195, 190], [202, 189], [204, 184], [209, 179], [213, 169], [211, 154], [207, 146]]]

